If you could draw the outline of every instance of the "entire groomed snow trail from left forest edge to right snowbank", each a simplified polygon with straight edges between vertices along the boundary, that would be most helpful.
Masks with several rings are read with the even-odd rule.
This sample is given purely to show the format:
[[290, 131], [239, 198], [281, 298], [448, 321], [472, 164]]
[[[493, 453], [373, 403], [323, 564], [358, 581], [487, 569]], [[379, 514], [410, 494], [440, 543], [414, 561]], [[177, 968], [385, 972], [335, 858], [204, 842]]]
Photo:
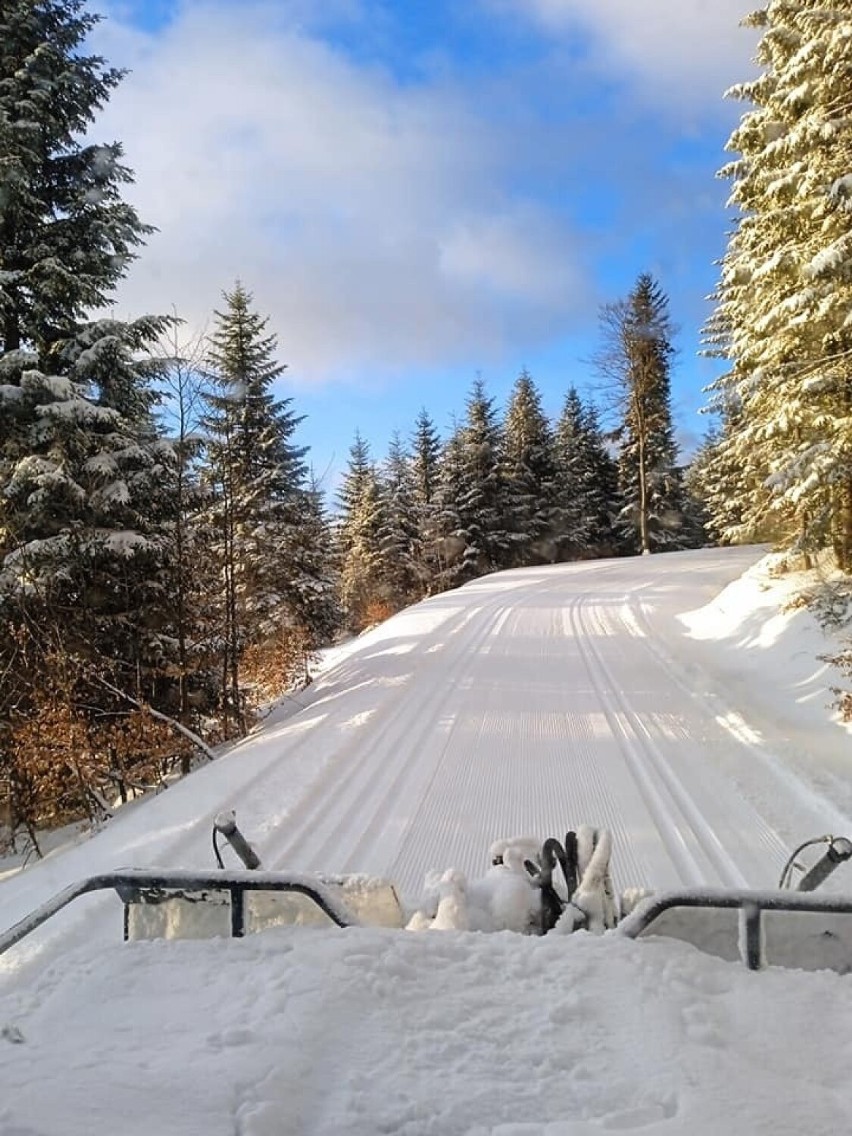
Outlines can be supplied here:
[[[710, 691], [676, 623], [759, 556], [524, 569], [426, 600], [351, 644], [298, 713], [0, 883], [0, 927], [93, 871], [210, 867], [224, 808], [269, 869], [386, 876], [409, 900], [427, 870], [481, 875], [500, 836], [580, 822], [612, 829], [619, 887], [774, 885], [794, 842], [852, 824], [774, 762], [766, 732], [732, 732], [750, 692]], [[114, 937], [108, 903], [69, 912], [64, 944]]]

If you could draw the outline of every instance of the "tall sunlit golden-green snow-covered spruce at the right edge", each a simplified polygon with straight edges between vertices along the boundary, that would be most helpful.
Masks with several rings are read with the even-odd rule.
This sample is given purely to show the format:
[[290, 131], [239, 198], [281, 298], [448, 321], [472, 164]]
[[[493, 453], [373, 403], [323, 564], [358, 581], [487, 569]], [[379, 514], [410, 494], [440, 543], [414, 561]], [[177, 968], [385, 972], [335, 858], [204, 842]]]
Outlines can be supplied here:
[[761, 75], [729, 94], [752, 105], [722, 170], [738, 210], [722, 260], [710, 348], [728, 415], [720, 446], [740, 471], [729, 540], [772, 526], [852, 568], [852, 3], [771, 0]]

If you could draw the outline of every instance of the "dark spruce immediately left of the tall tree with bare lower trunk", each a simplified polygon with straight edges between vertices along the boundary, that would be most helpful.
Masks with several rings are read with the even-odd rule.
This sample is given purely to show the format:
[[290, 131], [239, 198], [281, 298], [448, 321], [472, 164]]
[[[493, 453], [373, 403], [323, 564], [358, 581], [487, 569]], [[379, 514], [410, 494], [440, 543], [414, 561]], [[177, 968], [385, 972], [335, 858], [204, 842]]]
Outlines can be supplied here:
[[619, 540], [618, 467], [607, 451], [598, 414], [570, 387], [554, 429], [560, 560], [612, 556]]

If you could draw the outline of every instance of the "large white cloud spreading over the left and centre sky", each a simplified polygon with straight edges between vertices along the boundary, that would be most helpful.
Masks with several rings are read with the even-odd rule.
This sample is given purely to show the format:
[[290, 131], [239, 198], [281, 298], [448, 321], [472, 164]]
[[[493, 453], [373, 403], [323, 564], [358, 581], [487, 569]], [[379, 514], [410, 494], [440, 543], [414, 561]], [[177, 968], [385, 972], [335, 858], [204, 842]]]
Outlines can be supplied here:
[[[352, 7], [352, 18], [358, 18]], [[236, 276], [293, 379], [487, 358], [587, 290], [571, 233], [499, 185], [500, 132], [450, 89], [403, 87], [293, 23], [291, 6], [187, 2], [157, 35], [111, 20], [132, 74], [99, 119], [159, 228], [122, 310], [201, 325]]]

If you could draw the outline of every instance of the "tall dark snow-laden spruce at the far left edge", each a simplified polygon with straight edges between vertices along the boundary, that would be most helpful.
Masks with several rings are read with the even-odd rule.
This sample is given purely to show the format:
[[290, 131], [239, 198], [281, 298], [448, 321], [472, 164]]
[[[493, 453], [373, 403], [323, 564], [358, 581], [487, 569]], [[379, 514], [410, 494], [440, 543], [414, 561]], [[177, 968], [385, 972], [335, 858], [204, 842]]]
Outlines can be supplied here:
[[[0, 713], [7, 726], [9, 707], [17, 716], [7, 740], [56, 709], [51, 668], [70, 676], [65, 720], [87, 716], [90, 742], [106, 713], [126, 709], [101, 679], [148, 699], [161, 674], [172, 454], [153, 427], [147, 352], [165, 321], [92, 319], [149, 232], [122, 200], [120, 147], [83, 141], [122, 77], [85, 53], [95, 22], [81, 0], [0, 7], [0, 669], [16, 676]], [[9, 667], [22, 651], [26, 668]], [[106, 749], [92, 742], [76, 768], [55, 762], [65, 782], [53, 788], [70, 801], [78, 786], [78, 809], [97, 776], [109, 780], [92, 765]], [[2, 760], [26, 795], [23, 752], [6, 745]], [[36, 765], [47, 752], [27, 750]]]

